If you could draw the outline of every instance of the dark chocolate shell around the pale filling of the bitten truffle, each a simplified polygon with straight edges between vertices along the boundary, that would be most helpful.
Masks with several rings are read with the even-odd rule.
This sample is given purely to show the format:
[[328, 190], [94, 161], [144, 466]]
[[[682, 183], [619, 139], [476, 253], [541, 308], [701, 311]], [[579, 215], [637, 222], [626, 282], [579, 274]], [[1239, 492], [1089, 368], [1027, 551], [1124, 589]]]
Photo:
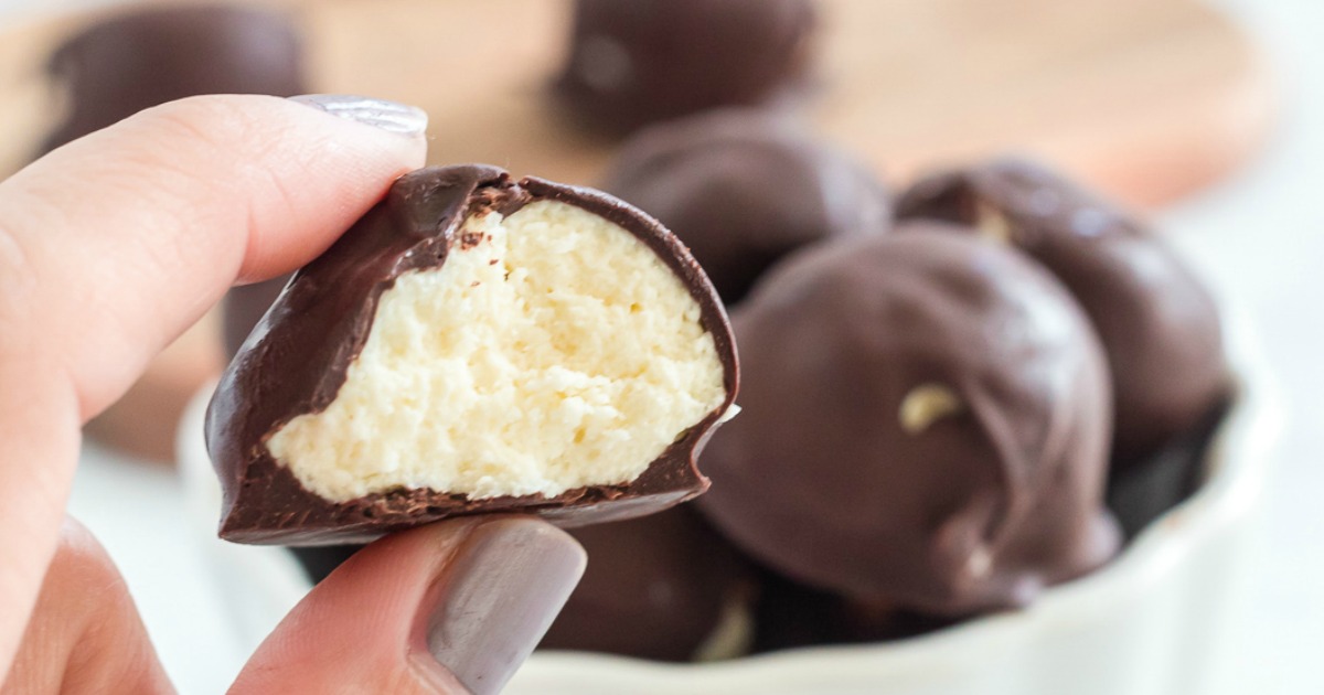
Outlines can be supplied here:
[[[393, 490], [335, 503], [306, 490], [266, 449], [286, 422], [330, 405], [361, 351], [381, 293], [395, 278], [446, 262], [465, 218], [510, 214], [557, 200], [621, 225], [653, 249], [690, 289], [724, 365], [726, 402], [628, 485], [543, 495], [467, 499], [445, 490]], [[487, 165], [408, 173], [324, 254], [295, 273], [221, 376], [207, 413], [207, 445], [224, 492], [221, 537], [241, 543], [320, 545], [367, 541], [450, 516], [534, 512], [561, 526], [628, 519], [703, 492], [694, 457], [736, 392], [736, 357], [726, 311], [703, 270], [677, 238], [637, 208], [587, 188]]]

